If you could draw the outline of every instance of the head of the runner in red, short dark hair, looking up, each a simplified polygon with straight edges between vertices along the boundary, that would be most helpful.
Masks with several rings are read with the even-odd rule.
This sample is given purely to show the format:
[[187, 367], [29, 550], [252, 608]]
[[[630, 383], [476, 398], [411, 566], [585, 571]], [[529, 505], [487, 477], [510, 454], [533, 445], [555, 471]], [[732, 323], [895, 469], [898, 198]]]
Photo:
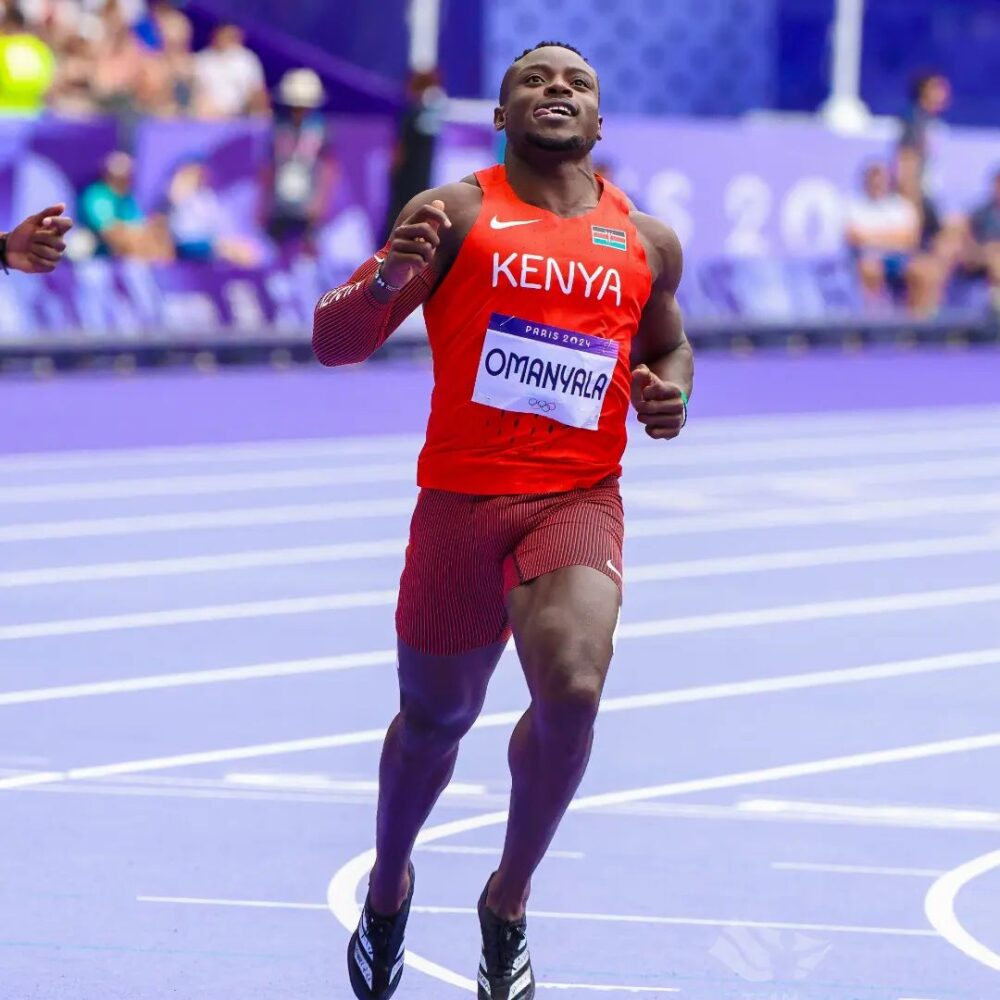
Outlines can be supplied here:
[[535, 49], [507, 72], [494, 113], [515, 147], [589, 153], [601, 138], [597, 74], [575, 52]]

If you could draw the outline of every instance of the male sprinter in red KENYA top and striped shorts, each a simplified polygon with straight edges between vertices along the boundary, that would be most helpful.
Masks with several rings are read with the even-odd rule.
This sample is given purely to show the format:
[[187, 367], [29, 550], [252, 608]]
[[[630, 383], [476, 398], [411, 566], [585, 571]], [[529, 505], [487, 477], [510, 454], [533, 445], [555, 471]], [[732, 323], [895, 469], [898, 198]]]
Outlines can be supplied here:
[[396, 612], [401, 710], [348, 952], [362, 1000], [399, 984], [410, 852], [511, 633], [531, 705], [510, 743], [503, 857], [479, 901], [479, 997], [535, 995], [530, 880], [587, 766], [618, 620], [629, 398], [646, 433], [668, 439], [691, 391], [680, 246], [594, 174], [594, 70], [571, 46], [538, 45], [504, 76], [494, 121], [505, 163], [414, 198], [313, 326], [324, 364], [352, 364], [423, 304], [434, 353]]

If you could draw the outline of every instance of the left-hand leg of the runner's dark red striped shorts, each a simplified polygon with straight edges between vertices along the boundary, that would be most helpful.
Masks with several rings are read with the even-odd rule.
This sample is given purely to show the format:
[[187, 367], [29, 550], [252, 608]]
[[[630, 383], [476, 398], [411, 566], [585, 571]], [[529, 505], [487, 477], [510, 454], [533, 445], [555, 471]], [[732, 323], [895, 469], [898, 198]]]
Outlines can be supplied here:
[[454, 656], [510, 638], [504, 540], [493, 537], [483, 503], [440, 490], [420, 493], [396, 607], [396, 631], [410, 649]]

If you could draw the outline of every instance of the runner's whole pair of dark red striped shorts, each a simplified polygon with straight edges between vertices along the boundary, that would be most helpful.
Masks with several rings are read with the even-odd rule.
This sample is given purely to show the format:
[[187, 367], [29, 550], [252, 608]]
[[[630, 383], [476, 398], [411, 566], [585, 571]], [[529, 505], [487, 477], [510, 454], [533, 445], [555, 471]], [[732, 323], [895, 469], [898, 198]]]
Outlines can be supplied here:
[[565, 566], [622, 586], [618, 477], [568, 493], [471, 496], [421, 490], [410, 524], [396, 630], [437, 656], [510, 637], [507, 594]]

